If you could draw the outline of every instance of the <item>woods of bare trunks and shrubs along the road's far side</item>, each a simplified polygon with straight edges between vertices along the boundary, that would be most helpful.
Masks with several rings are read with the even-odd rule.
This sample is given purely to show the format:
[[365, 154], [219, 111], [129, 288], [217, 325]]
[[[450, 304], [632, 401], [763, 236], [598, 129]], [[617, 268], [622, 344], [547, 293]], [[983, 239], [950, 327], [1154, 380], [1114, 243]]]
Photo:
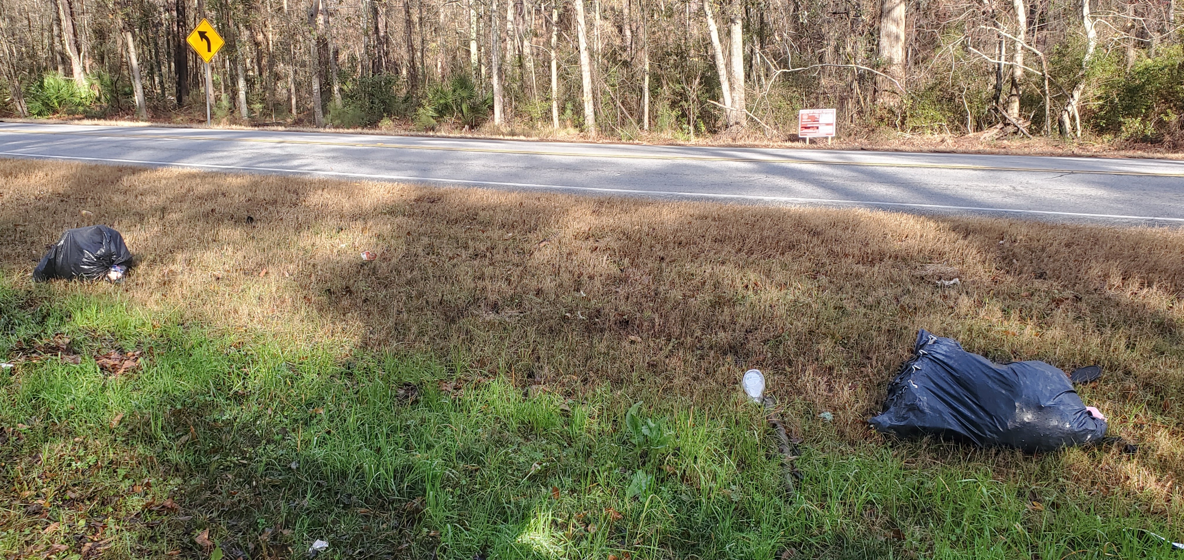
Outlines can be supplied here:
[[9, 0], [0, 111], [192, 120], [201, 18], [230, 122], [1184, 141], [1178, 0]]

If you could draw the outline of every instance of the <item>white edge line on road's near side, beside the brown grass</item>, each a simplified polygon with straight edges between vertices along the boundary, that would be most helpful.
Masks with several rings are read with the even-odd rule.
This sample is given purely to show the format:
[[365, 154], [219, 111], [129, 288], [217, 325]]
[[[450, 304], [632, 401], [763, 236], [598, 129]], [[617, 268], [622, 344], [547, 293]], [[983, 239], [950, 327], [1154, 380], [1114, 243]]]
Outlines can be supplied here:
[[1112, 218], [1112, 219], [1126, 219], [1126, 220], [1148, 220], [1148, 221], [1180, 221], [1184, 223], [1184, 218], [1160, 218], [1153, 215], [1122, 215], [1122, 214], [1090, 214], [1085, 212], [1057, 212], [1053, 210], [1021, 210], [1021, 208], [992, 208], [982, 206], [951, 206], [940, 204], [916, 204], [916, 202], [876, 202], [870, 200], [843, 200], [843, 199], [809, 199], [809, 198], [797, 198], [797, 197], [764, 197], [759, 194], [725, 194], [725, 193], [684, 193], [684, 192], [673, 192], [673, 191], [641, 191], [632, 188], [603, 188], [603, 187], [571, 187], [565, 185], [538, 185], [529, 182], [501, 182], [501, 181], [474, 181], [466, 179], [435, 179], [424, 176], [405, 176], [405, 175], [379, 175], [371, 173], [348, 173], [348, 172], [323, 172], [315, 169], [284, 169], [279, 167], [255, 167], [255, 166], [224, 166], [215, 163], [178, 163], [168, 161], [148, 161], [148, 160], [121, 160], [111, 157], [84, 157], [84, 156], [72, 156], [72, 155], [45, 155], [45, 154], [25, 154], [20, 152], [0, 152], [0, 155], [11, 155], [17, 157], [41, 157], [51, 160], [77, 160], [77, 161], [104, 161], [104, 162], [116, 162], [116, 163], [137, 163], [137, 165], [149, 165], [149, 166], [162, 166], [162, 167], [197, 167], [207, 169], [237, 169], [237, 170], [257, 170], [257, 172], [270, 172], [270, 173], [285, 173], [285, 174], [309, 174], [309, 175], [330, 175], [330, 176], [353, 176], [353, 178], [365, 178], [365, 179], [393, 179], [399, 181], [423, 181], [423, 182], [436, 182], [443, 185], [485, 185], [485, 186], [501, 186], [501, 187], [523, 187], [523, 188], [551, 188], [561, 191], [584, 191], [584, 192], [599, 192], [599, 193], [619, 193], [619, 194], [646, 194], [646, 195], [659, 195], [659, 197], [700, 197], [700, 198], [718, 198], [718, 199], [736, 199], [736, 200], [761, 200], [767, 202], [815, 202], [815, 204], [850, 204], [850, 205], [864, 205], [864, 206], [892, 206], [892, 207], [907, 207], [907, 208], [934, 208], [934, 210], [965, 210], [965, 211], [978, 211], [978, 212], [1005, 212], [1005, 213], [1018, 213], [1018, 214], [1041, 214], [1041, 215], [1073, 215], [1081, 218]]

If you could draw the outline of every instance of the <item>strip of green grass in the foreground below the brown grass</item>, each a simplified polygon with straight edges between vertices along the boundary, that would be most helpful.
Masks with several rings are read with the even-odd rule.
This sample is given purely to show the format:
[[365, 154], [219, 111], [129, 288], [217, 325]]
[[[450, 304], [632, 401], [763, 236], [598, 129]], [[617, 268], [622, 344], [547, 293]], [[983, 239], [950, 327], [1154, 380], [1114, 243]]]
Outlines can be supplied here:
[[[120, 375], [96, 355], [142, 350]], [[73, 363], [77, 359], [78, 363]], [[1179, 558], [1179, 522], [1041, 456], [877, 437], [819, 411], [797, 493], [761, 412], [556, 394], [430, 356], [215, 333], [0, 282], [4, 558]], [[644, 400], [637, 404], [639, 400]]]

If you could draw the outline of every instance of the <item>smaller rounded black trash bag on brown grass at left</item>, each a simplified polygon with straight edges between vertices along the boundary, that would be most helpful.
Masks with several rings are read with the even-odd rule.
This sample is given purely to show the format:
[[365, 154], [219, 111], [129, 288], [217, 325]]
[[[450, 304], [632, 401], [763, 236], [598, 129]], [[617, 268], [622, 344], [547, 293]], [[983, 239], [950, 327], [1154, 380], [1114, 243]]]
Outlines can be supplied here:
[[131, 264], [131, 252], [123, 244], [123, 236], [108, 226], [88, 226], [66, 230], [62, 239], [45, 253], [33, 270], [33, 279], [89, 279], [107, 277], [112, 266]]

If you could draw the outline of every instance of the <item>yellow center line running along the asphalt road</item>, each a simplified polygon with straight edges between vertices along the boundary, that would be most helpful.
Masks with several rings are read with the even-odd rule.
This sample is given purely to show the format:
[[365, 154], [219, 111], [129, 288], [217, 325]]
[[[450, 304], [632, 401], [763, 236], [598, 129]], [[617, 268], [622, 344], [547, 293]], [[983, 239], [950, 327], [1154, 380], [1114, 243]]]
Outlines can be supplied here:
[[546, 150], [517, 150], [501, 148], [461, 148], [452, 146], [405, 146], [386, 144], [381, 142], [329, 142], [320, 140], [281, 140], [281, 139], [227, 139], [218, 136], [173, 136], [156, 134], [105, 134], [105, 133], [59, 133], [52, 130], [20, 130], [2, 129], [6, 134], [49, 134], [69, 136], [99, 136], [116, 139], [153, 139], [153, 140], [205, 140], [218, 142], [259, 142], [276, 144], [308, 144], [308, 146], [341, 146], [361, 148], [390, 148], [390, 149], [418, 149], [438, 152], [466, 152], [487, 154], [513, 154], [513, 155], [552, 155], [566, 157], [610, 157], [620, 160], [664, 160], [664, 161], [727, 161], [740, 163], [804, 163], [804, 165], [830, 165], [830, 166], [866, 166], [866, 167], [899, 167], [899, 168], [925, 168], [925, 169], [967, 169], [967, 170], [1000, 170], [1000, 172], [1028, 172], [1028, 173], [1062, 173], [1062, 174], [1092, 174], [1092, 175], [1133, 175], [1133, 176], [1182, 176], [1184, 173], [1167, 172], [1125, 172], [1103, 169], [1045, 169], [1038, 167], [992, 167], [961, 163], [900, 163], [900, 162], [874, 162], [874, 161], [834, 161], [834, 160], [807, 160], [800, 157], [729, 157], [729, 156], [706, 156], [706, 155], [655, 155], [655, 154], [591, 154], [579, 152], [546, 152]]

